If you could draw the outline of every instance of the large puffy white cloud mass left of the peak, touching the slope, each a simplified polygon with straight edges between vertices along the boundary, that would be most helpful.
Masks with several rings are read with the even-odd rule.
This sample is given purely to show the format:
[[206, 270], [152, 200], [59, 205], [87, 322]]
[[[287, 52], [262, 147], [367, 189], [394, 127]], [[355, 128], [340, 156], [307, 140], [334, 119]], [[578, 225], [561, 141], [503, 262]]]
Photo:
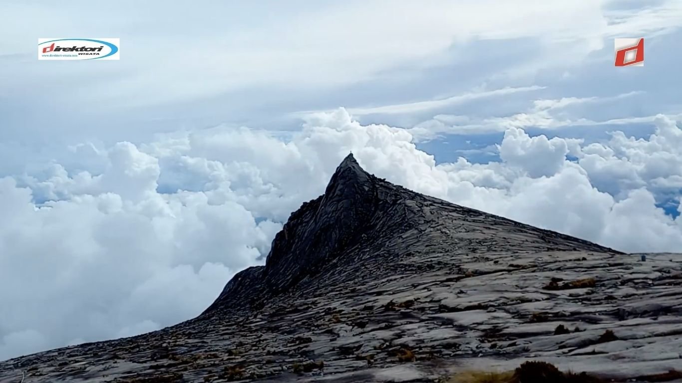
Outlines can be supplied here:
[[233, 200], [158, 194], [158, 159], [133, 144], [102, 154], [98, 175], [0, 179], [0, 211], [12, 217], [0, 221], [0, 358], [192, 318], [261, 262], [280, 228]]

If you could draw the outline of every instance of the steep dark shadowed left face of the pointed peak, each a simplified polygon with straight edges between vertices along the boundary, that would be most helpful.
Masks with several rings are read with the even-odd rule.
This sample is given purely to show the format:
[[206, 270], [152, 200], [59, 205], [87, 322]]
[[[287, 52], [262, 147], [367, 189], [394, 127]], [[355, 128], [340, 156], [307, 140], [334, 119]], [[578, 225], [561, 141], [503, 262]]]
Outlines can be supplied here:
[[[386, 223], [389, 217], [372, 220], [380, 202], [376, 177], [360, 168], [353, 155], [349, 155], [333, 174], [325, 194], [303, 203], [289, 217], [275, 236], [265, 266], [239, 273], [237, 280], [226, 286], [205, 313], [249, 307], [255, 300], [267, 301], [269, 296], [314, 277], [331, 260], [366, 239], [363, 233], [371, 232], [372, 226]], [[254, 287], [256, 279], [258, 287]], [[254, 288], [252, 291], [257, 294], [241, 294]]]

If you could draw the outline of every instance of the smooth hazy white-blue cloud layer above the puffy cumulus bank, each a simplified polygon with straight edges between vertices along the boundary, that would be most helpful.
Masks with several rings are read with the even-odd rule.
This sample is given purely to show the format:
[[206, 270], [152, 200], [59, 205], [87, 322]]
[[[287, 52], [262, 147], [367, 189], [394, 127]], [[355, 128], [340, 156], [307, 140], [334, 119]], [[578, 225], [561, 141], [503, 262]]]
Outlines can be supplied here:
[[[434, 119], [415, 127], [411, 133], [424, 141], [448, 132], [502, 132], [501, 123], [486, 119], [523, 112], [518, 105], [528, 95], [561, 99], [647, 91], [641, 103], [617, 108], [633, 111], [632, 116], [557, 113], [554, 122], [529, 118], [516, 127], [580, 118], [629, 121], [669, 113], [668, 104], [677, 102], [672, 82], [656, 78], [674, 78], [674, 71], [662, 66], [679, 61], [674, 49], [676, 25], [682, 25], [677, 1], [623, 5], [580, 0], [567, 5], [525, 0], [508, 5], [466, 0], [418, 6], [346, 1], [305, 7], [263, 7], [256, 1], [199, 8], [124, 0], [97, 22], [83, 15], [98, 7], [81, 2], [65, 1], [59, 7], [45, 0], [0, 2], [0, 14], [10, 15], [0, 33], [20, 36], [0, 42], [6, 52], [0, 56], [5, 69], [0, 73], [0, 174], [20, 172], [36, 158], [49, 161], [73, 142], [91, 141], [102, 149], [224, 121], [291, 129], [292, 112], [339, 105], [357, 107], [351, 108], [356, 116], [370, 113], [362, 116], [364, 123], [404, 127], [433, 114], [470, 117], [468, 122]], [[207, 20], [207, 13], [223, 16]], [[184, 32], [171, 21], [179, 15]], [[563, 22], [566, 18], [574, 22]], [[608, 62], [610, 37], [622, 36], [621, 31], [649, 39], [651, 69], [640, 76], [614, 70]], [[31, 47], [36, 35], [83, 33], [121, 38], [121, 60], [83, 67], [35, 60]], [[466, 104], [460, 96], [449, 99], [471, 89], [533, 85], [546, 89], [468, 99]], [[525, 112], [532, 114], [530, 108]]]

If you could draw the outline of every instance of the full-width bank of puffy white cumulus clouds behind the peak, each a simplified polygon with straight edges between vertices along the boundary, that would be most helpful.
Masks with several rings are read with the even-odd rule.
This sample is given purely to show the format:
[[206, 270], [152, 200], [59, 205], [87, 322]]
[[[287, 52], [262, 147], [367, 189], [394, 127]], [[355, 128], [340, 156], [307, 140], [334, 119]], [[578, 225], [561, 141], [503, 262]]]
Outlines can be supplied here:
[[287, 140], [217, 127], [84, 144], [80, 166], [0, 179], [0, 211], [12, 217], [0, 220], [0, 358], [196, 316], [231, 275], [263, 262], [288, 214], [323, 192], [349, 151], [379, 177], [458, 204], [625, 251], [679, 250], [682, 219], [656, 203], [682, 178], [682, 131], [655, 123], [649, 138], [599, 144], [511, 128], [489, 164], [436, 164], [409, 130], [343, 109]]

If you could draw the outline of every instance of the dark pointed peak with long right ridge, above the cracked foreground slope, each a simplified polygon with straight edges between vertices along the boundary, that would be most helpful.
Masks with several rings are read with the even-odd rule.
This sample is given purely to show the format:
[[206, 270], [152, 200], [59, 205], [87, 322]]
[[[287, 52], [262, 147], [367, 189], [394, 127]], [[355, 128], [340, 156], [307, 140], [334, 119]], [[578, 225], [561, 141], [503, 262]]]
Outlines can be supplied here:
[[[436, 234], [424, 234], [431, 230]], [[469, 249], [472, 254], [515, 247], [612, 251], [394, 185], [366, 172], [351, 153], [336, 168], [325, 194], [291, 214], [265, 266], [239, 273], [205, 313], [265, 305], [301, 285], [321, 283], [322, 275], [364, 268], [369, 261], [361, 259], [368, 254], [390, 275], [391, 262], [400, 254], [426, 253], [434, 243], [447, 244], [443, 251]]]

